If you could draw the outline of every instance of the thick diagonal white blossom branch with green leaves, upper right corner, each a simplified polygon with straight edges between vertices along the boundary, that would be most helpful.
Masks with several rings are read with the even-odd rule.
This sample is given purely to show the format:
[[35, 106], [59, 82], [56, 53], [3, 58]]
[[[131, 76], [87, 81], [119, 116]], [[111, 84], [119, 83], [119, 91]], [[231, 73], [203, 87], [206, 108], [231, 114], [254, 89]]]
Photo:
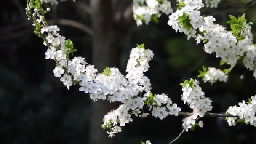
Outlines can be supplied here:
[[235, 65], [240, 57], [243, 57], [245, 67], [256, 69], [254, 61], [256, 48], [253, 45], [251, 33], [252, 23], [246, 23], [245, 15], [238, 19], [230, 16], [231, 32], [219, 24], [214, 24], [213, 16], [201, 16], [200, 8], [204, 7], [202, 0], [179, 0], [180, 8], [169, 16], [168, 25], [187, 35], [187, 38], [195, 38], [198, 43], [203, 41], [206, 53], [216, 53], [227, 64]]

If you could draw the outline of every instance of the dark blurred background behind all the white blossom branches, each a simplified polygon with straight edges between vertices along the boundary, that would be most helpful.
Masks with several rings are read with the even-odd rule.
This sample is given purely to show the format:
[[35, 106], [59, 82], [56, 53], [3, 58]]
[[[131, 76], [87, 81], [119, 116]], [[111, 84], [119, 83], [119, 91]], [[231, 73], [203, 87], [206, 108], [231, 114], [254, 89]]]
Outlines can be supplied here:
[[[246, 13], [248, 21], [256, 23], [256, 5], [249, 0], [221, 0], [216, 9], [203, 8], [204, 15], [213, 15], [216, 22], [229, 26], [228, 15]], [[203, 45], [187, 40], [184, 34], [175, 33], [163, 15], [159, 24], [137, 27], [129, 5], [132, 0], [71, 0], [51, 7], [47, 19], [61, 28], [61, 35], [70, 38], [89, 64], [99, 72], [105, 66], [117, 66], [125, 75], [129, 51], [136, 43], [144, 43], [154, 51], [146, 75], [152, 83], [153, 93], [167, 93], [171, 100], [190, 112], [180, 100], [179, 83], [196, 78], [203, 65], [218, 67], [219, 58], [203, 51]], [[172, 0], [176, 11], [176, 2]], [[45, 60], [43, 40], [32, 33], [33, 28], [25, 15], [25, 0], [2, 0], [0, 8], [0, 144], [139, 144], [147, 139], [152, 144], [167, 144], [181, 132], [182, 117], [168, 116], [164, 120], [152, 116], [134, 117], [122, 127], [114, 138], [107, 138], [101, 129], [101, 120], [110, 110], [104, 102], [93, 103], [88, 94], [74, 86], [69, 91], [53, 76], [54, 61]], [[88, 5], [90, 7], [86, 7]], [[127, 10], [127, 11], [126, 11]], [[116, 14], [126, 11], [121, 19]], [[126, 13], [126, 14], [127, 14]], [[82, 30], [70, 24], [59, 24], [69, 19], [92, 29]], [[253, 33], [255, 33], [255, 25]], [[111, 41], [111, 43], [109, 43]], [[213, 100], [211, 112], [223, 113], [230, 105], [256, 94], [253, 72], [246, 72], [238, 62], [229, 75], [228, 83], [214, 85], [201, 82], [205, 96]], [[245, 79], [240, 76], [245, 73]], [[224, 118], [204, 117], [204, 128], [189, 131], [176, 144], [256, 144], [256, 128], [237, 124], [229, 127]]]

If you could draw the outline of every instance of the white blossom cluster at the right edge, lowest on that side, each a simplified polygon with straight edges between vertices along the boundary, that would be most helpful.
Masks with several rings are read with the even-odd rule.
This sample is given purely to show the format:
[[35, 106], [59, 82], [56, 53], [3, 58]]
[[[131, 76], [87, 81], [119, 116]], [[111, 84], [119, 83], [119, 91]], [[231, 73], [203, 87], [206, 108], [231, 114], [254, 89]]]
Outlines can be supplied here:
[[245, 101], [243, 100], [242, 102], [238, 103], [238, 105], [239, 107], [230, 106], [227, 109], [227, 113], [233, 116], [237, 116], [226, 118], [229, 126], [235, 126], [236, 123], [242, 122], [254, 125], [256, 127], [256, 96], [251, 96], [247, 103], [245, 103]]

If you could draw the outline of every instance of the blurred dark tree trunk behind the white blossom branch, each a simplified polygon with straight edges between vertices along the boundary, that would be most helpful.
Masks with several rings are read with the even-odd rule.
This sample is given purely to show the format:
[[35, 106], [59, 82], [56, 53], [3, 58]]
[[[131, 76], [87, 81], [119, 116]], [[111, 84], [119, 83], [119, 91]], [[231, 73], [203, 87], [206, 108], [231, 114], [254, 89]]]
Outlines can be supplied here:
[[[102, 72], [105, 67], [118, 67], [120, 62], [120, 32], [113, 27], [111, 0], [91, 0], [93, 35], [93, 64]], [[113, 144], [106, 130], [101, 128], [102, 118], [115, 105], [109, 101], [92, 102], [89, 144]], [[109, 131], [109, 130], [107, 130]]]

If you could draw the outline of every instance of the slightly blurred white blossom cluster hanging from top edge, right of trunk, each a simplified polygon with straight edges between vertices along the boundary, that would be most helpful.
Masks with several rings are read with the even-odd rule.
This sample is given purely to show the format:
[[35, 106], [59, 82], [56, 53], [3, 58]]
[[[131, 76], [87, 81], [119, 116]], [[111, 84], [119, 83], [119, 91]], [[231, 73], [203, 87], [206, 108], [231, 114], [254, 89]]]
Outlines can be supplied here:
[[160, 12], [168, 15], [173, 10], [168, 0], [133, 0], [133, 17], [136, 24], [143, 22], [149, 24], [150, 21], [158, 22]]

